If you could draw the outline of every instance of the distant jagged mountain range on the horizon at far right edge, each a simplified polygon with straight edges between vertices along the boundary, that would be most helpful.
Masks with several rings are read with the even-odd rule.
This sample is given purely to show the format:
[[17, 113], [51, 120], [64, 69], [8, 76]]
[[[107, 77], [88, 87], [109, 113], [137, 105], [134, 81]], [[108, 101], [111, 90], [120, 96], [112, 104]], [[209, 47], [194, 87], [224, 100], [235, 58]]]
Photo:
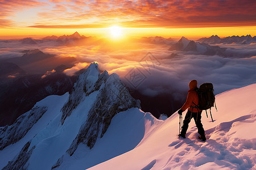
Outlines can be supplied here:
[[215, 36], [210, 36], [209, 38], [204, 37], [199, 40], [196, 40], [199, 42], [205, 42], [208, 44], [251, 44], [251, 43], [256, 43], [256, 36], [251, 37], [251, 35], [247, 36], [229, 36], [225, 38], [220, 38], [217, 35]]

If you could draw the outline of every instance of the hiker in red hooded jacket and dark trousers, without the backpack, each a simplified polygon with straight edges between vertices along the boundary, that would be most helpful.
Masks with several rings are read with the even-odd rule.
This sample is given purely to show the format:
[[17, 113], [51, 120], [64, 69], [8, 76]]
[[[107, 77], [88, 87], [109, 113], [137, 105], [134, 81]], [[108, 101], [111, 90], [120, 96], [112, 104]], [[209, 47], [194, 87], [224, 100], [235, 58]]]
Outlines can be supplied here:
[[185, 134], [188, 130], [188, 124], [191, 121], [191, 119], [194, 118], [196, 127], [198, 129], [198, 133], [200, 134], [200, 136], [198, 138], [201, 139], [201, 141], [206, 141], [204, 128], [201, 123], [202, 111], [196, 107], [196, 105], [199, 104], [199, 98], [198, 98], [198, 95], [196, 92], [197, 81], [191, 80], [189, 82], [188, 86], [189, 86], [189, 90], [188, 90], [187, 100], [184, 103], [183, 107], [181, 107], [180, 110], [178, 111], [178, 113], [181, 115], [182, 112], [184, 112], [188, 108], [188, 112], [183, 121], [183, 126], [182, 126], [181, 132], [179, 134], [179, 137], [186, 138]]

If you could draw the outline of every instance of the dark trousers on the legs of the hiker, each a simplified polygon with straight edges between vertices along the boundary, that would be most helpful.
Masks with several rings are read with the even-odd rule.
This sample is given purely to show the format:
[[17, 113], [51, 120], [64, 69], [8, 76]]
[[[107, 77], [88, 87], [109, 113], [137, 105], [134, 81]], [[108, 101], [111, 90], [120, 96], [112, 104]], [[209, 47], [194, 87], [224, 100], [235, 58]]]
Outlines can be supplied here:
[[201, 112], [191, 112], [191, 111], [188, 111], [186, 116], [185, 116], [185, 119], [183, 121], [183, 126], [182, 126], [182, 130], [181, 130], [181, 134], [186, 134], [187, 130], [188, 130], [188, 124], [189, 122], [191, 121], [192, 118], [194, 118], [195, 120], [195, 123], [196, 123], [196, 127], [198, 129], [198, 133], [200, 135], [205, 135], [204, 134], [204, 128], [203, 128], [203, 125], [201, 123]]

